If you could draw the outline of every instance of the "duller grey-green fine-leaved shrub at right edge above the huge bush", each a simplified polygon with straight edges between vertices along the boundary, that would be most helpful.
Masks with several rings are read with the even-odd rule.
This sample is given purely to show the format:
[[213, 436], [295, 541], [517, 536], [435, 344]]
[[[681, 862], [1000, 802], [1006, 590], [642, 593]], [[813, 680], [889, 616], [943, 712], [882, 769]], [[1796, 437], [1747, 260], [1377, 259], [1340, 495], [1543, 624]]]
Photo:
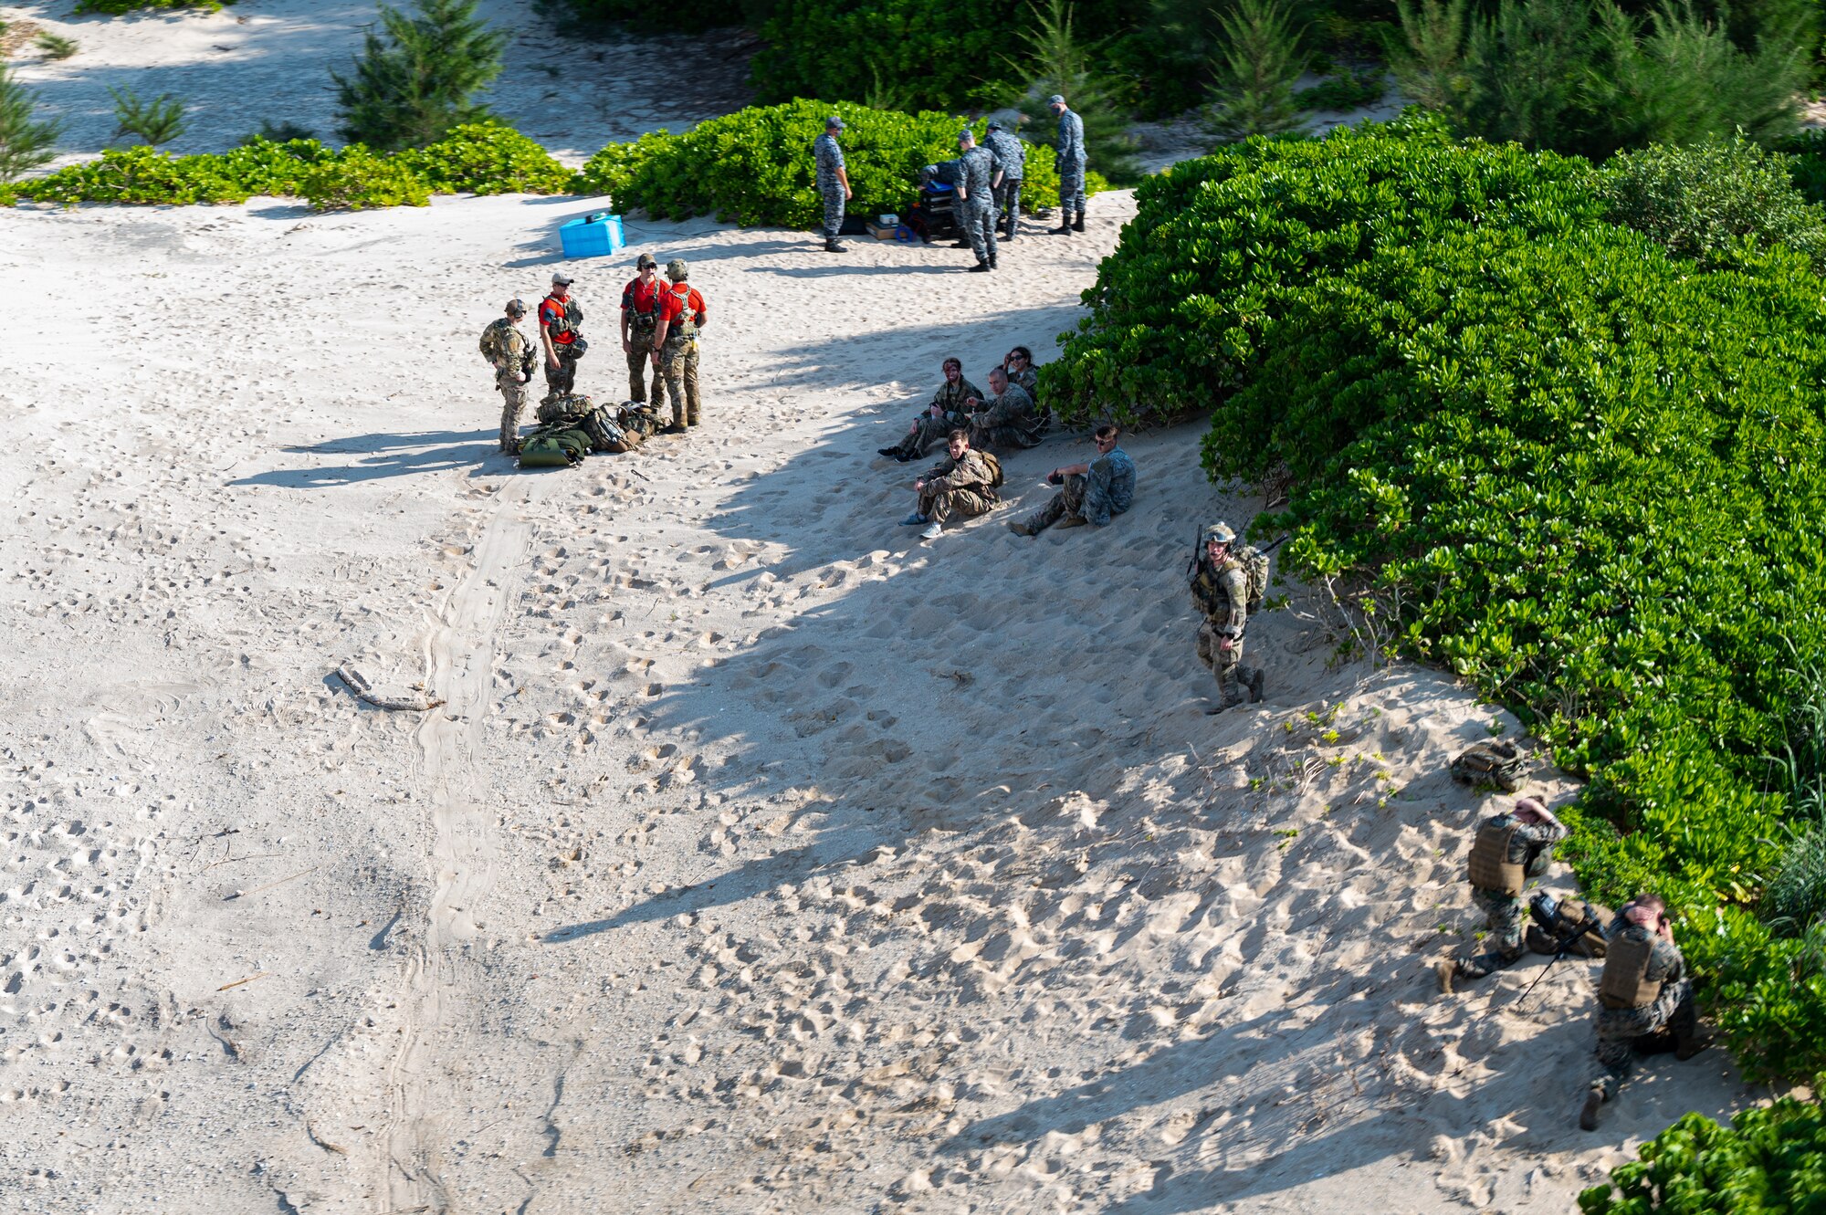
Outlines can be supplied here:
[[[1742, 135], [1729, 142], [1629, 151], [1600, 179], [1609, 215], [1707, 268], [1782, 244], [1826, 272], [1826, 212], [1810, 204], [1780, 157]], [[1749, 254], [1755, 257], [1755, 254]]]

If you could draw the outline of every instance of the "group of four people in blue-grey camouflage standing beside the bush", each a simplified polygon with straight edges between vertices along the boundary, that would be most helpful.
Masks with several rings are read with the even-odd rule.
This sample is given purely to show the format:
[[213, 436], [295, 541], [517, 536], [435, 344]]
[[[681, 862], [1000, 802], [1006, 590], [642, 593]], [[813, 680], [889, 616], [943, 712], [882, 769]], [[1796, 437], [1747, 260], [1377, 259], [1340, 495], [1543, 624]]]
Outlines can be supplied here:
[[[1059, 226], [1052, 232], [1070, 235], [1085, 230], [1085, 120], [1072, 111], [1065, 97], [1054, 93], [1050, 102], [1059, 119], [1054, 168], [1059, 171]], [[849, 252], [838, 239], [844, 228], [844, 208], [855, 197], [849, 184], [849, 164], [844, 161], [842, 133], [845, 126], [836, 115], [824, 120], [824, 135], [813, 140], [814, 179], [824, 201], [824, 248], [827, 254]], [[1026, 146], [1008, 124], [993, 119], [977, 144], [968, 126], [957, 133], [957, 223], [962, 230], [959, 244], [968, 244], [977, 255], [973, 272], [990, 272], [999, 265], [999, 244], [1013, 241], [1021, 226], [1021, 186], [1026, 179]]]

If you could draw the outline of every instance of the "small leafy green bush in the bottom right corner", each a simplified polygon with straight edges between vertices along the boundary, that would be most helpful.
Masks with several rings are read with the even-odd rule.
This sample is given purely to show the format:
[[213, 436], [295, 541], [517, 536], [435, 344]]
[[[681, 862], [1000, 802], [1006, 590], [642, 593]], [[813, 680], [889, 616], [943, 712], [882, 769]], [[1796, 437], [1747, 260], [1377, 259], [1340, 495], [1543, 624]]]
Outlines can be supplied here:
[[1689, 1113], [1579, 1195], [1583, 1215], [1768, 1213], [1826, 1210], [1826, 1115], [1782, 1098], [1746, 1109], [1726, 1129]]

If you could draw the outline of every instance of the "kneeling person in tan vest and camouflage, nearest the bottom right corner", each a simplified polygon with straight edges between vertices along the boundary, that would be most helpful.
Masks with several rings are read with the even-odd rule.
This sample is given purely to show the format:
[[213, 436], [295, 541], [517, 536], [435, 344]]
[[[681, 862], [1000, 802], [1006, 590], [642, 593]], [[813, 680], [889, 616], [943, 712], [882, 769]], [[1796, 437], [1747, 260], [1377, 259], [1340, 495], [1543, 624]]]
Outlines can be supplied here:
[[1674, 1047], [1689, 1060], [1711, 1040], [1700, 1033], [1687, 961], [1674, 945], [1667, 905], [1638, 894], [1618, 912], [1598, 980], [1598, 1075], [1585, 1093], [1579, 1126], [1598, 1129], [1598, 1109], [1616, 1100], [1638, 1049]]

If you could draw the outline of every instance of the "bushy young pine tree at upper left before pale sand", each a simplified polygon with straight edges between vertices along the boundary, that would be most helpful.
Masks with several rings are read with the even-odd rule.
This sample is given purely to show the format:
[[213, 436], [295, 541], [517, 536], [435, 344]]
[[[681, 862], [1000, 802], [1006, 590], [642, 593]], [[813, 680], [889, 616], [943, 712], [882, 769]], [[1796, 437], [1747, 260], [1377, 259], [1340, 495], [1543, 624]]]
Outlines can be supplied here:
[[398, 151], [488, 117], [469, 99], [500, 75], [508, 35], [475, 15], [475, 0], [418, 0], [415, 16], [382, 4], [380, 24], [387, 36], [367, 33], [354, 78], [331, 71], [338, 135]]

